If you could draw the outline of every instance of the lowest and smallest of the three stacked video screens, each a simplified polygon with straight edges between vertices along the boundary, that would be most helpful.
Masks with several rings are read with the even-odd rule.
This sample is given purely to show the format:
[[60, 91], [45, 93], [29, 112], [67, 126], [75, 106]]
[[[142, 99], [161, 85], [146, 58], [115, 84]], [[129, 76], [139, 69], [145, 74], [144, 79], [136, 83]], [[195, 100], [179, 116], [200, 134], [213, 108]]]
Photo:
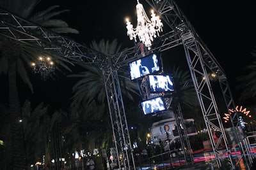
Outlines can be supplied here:
[[164, 99], [161, 96], [147, 99], [142, 101], [140, 104], [144, 115], [166, 110]]

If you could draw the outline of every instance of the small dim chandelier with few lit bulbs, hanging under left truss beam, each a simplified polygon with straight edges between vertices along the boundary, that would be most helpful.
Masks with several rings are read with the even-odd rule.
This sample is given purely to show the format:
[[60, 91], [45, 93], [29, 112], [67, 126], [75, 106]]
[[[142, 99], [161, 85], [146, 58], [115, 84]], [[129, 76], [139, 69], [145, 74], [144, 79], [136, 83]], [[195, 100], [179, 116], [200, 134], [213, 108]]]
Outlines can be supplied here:
[[38, 62], [32, 63], [33, 72], [40, 74], [42, 80], [47, 80], [49, 76], [54, 73], [55, 67], [50, 57], [39, 57]]

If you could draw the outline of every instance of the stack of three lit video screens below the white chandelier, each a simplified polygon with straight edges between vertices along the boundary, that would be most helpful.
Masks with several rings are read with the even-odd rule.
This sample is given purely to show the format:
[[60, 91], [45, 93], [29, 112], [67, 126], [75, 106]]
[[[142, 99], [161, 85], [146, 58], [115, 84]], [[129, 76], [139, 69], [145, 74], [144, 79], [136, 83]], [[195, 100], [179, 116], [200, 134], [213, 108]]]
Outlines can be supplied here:
[[[159, 57], [153, 53], [140, 59], [129, 62], [131, 80], [147, 77], [148, 89], [151, 94], [173, 92], [173, 80], [170, 74], [160, 74]], [[159, 113], [166, 110], [164, 97], [152, 97], [141, 103], [145, 115]]]

